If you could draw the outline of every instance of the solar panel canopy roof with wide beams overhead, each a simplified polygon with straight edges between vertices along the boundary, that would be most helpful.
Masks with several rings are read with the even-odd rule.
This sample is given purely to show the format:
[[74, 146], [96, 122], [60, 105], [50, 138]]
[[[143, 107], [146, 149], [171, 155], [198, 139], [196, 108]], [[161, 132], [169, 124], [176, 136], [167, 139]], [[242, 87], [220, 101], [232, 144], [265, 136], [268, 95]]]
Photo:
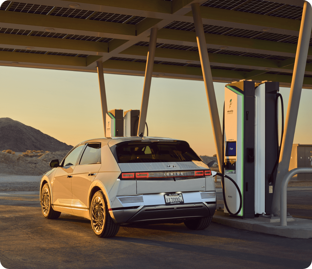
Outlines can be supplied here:
[[[213, 81], [290, 87], [302, 0], [26, 0], [0, 7], [0, 65], [202, 80], [190, 3], [200, 3]], [[312, 39], [310, 39], [311, 45]], [[312, 88], [309, 47], [303, 88]]]

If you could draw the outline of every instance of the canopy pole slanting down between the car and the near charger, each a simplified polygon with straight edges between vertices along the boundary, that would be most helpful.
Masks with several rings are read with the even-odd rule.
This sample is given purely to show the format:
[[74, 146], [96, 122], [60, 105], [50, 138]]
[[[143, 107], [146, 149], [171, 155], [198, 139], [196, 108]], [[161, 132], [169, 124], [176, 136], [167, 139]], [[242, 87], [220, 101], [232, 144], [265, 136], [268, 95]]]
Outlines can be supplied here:
[[204, 77], [204, 83], [206, 88], [206, 95], [212, 125], [212, 132], [217, 150], [217, 159], [220, 173], [222, 171], [222, 130], [220, 124], [220, 118], [217, 107], [216, 94], [212, 82], [212, 74], [210, 69], [210, 62], [208, 58], [206, 38], [204, 28], [202, 26], [202, 17], [200, 14], [200, 7], [198, 3], [191, 4], [193, 12], [193, 20], [195, 24], [197, 45], [199, 51], [199, 58], [202, 65], [202, 75]]

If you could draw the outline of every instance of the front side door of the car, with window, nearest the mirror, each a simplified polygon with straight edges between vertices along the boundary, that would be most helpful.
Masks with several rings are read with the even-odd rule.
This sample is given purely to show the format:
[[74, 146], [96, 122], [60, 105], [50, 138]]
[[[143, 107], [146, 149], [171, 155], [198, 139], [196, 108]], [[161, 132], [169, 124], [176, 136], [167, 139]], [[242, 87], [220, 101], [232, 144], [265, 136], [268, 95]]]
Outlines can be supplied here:
[[62, 161], [61, 167], [56, 168], [53, 179], [53, 207], [56, 211], [72, 213], [71, 176], [76, 162], [85, 145], [75, 147]]

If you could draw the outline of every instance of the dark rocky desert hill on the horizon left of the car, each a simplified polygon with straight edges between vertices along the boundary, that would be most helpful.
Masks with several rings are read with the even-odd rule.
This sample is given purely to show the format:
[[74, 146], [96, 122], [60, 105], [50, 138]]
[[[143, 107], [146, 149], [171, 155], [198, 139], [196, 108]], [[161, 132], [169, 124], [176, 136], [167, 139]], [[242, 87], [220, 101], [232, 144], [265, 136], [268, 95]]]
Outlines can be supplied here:
[[11, 118], [0, 118], [0, 151], [69, 151], [73, 148], [43, 132]]

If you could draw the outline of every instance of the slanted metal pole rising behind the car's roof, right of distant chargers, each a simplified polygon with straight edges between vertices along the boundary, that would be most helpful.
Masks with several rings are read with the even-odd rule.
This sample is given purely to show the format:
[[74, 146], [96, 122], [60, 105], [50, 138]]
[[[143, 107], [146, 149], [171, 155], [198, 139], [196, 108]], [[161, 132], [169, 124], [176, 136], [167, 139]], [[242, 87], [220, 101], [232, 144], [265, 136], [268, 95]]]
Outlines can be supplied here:
[[158, 31], [158, 28], [152, 28], [151, 35], [149, 37], [149, 52], [147, 53], [143, 95], [142, 95], [140, 118], [139, 118], [139, 128], [138, 128], [137, 135], [139, 135], [140, 133], [144, 134], [144, 130], [145, 130], [147, 107], [149, 105], [149, 91], [151, 89], [152, 73], [153, 73], [153, 67], [154, 67], [157, 31]]

